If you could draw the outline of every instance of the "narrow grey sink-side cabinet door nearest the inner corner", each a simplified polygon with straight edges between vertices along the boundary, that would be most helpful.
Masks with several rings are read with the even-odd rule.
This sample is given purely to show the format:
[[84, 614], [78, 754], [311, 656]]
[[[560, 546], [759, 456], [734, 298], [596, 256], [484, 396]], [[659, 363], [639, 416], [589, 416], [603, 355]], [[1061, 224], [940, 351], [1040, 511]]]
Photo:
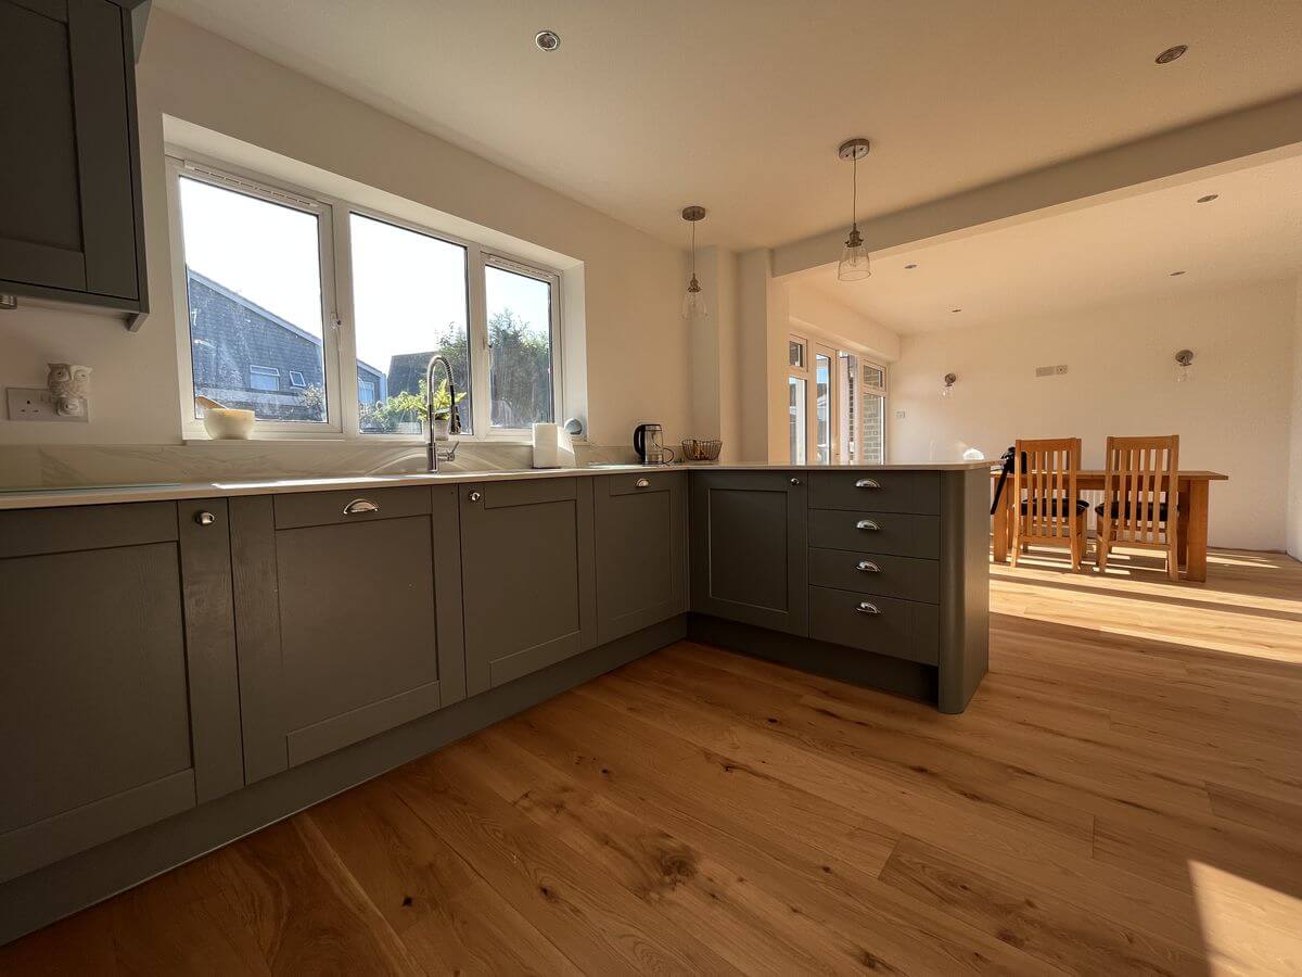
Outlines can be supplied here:
[[687, 610], [687, 475], [595, 479], [596, 636], [605, 644]]

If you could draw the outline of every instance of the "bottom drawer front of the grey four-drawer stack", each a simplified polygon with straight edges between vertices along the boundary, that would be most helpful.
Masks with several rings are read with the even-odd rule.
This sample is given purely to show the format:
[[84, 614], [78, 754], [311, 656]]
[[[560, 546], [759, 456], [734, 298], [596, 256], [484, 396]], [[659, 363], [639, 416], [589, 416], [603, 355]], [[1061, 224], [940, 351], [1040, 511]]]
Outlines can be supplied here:
[[810, 588], [810, 637], [891, 658], [936, 664], [940, 611], [935, 604]]

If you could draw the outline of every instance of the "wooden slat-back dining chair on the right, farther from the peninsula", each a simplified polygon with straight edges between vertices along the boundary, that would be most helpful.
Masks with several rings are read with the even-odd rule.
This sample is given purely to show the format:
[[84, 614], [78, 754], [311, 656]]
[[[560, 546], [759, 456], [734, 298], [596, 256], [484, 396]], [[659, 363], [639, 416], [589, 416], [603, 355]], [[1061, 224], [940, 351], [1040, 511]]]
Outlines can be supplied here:
[[1180, 435], [1108, 438], [1099, 515], [1099, 569], [1113, 546], [1164, 550], [1167, 576], [1180, 580]]

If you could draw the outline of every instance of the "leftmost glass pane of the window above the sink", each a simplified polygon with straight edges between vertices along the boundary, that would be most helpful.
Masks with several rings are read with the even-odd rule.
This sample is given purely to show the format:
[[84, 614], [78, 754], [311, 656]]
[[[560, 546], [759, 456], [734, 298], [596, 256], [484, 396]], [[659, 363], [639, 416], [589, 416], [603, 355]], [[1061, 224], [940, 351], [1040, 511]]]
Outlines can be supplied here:
[[[202, 175], [178, 176], [177, 197], [190, 333], [184, 393], [194, 416], [193, 395], [203, 395], [268, 423], [326, 425], [323, 378], [333, 350], [324, 328], [322, 214], [310, 202]], [[281, 389], [280, 369], [255, 357], [292, 363], [318, 383]]]

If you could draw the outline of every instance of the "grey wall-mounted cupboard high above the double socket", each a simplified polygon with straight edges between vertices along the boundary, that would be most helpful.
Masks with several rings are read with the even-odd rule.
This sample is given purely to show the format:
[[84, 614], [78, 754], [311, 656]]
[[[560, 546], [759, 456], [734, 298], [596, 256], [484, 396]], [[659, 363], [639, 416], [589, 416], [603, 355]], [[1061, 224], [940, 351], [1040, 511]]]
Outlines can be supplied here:
[[122, 0], [0, 0], [0, 292], [148, 310]]

